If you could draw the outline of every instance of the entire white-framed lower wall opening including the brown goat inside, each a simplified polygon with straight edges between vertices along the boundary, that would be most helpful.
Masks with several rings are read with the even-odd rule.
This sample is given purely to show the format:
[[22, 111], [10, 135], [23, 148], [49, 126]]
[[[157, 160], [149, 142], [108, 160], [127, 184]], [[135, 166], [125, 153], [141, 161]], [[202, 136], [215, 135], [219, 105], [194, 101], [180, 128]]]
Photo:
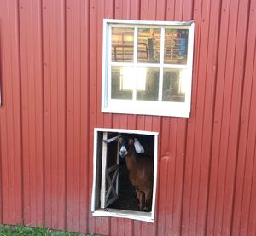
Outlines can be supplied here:
[[156, 132], [95, 129], [93, 216], [154, 222], [157, 144]]

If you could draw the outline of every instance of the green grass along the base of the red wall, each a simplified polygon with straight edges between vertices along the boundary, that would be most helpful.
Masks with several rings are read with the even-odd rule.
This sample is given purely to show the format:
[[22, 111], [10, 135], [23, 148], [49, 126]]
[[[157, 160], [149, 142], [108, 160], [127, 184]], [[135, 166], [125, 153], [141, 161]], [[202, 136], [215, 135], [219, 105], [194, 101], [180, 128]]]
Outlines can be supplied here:
[[62, 232], [50, 230], [43, 227], [25, 227], [25, 226], [6, 226], [0, 225], [0, 236], [82, 236], [82, 235], [95, 235], [83, 234], [73, 232]]

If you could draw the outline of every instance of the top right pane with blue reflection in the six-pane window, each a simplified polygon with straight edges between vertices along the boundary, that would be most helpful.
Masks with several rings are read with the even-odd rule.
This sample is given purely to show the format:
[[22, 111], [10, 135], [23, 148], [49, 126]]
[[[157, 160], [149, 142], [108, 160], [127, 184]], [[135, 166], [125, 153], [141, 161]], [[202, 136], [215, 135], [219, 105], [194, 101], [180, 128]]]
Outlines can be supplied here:
[[187, 64], [189, 30], [166, 29], [165, 63]]

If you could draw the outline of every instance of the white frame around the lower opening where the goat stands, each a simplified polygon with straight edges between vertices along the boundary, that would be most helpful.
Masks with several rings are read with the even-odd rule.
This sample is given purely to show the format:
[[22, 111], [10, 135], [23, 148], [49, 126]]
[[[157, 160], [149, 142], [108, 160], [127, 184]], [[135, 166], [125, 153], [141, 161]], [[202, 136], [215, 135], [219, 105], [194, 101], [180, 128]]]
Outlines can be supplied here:
[[[96, 204], [99, 199], [96, 199], [96, 192], [99, 193], [99, 187], [96, 186], [96, 178], [98, 176], [97, 161], [98, 161], [98, 133], [125, 133], [125, 134], [137, 134], [137, 135], [153, 135], [154, 136], [154, 183], [153, 183], [153, 196], [152, 196], [152, 207], [150, 212], [134, 211], [134, 210], [119, 210], [111, 209], [108, 210], [101, 207], [101, 204]], [[157, 183], [157, 150], [158, 150], [158, 132], [149, 132], [143, 130], [124, 130], [124, 129], [106, 129], [106, 128], [95, 128], [94, 129], [94, 152], [93, 152], [93, 184], [91, 194], [91, 211], [92, 216], [108, 216], [118, 218], [128, 218], [144, 222], [154, 222], [155, 215], [155, 198], [156, 198], [156, 183]], [[101, 193], [102, 197], [102, 193]]]

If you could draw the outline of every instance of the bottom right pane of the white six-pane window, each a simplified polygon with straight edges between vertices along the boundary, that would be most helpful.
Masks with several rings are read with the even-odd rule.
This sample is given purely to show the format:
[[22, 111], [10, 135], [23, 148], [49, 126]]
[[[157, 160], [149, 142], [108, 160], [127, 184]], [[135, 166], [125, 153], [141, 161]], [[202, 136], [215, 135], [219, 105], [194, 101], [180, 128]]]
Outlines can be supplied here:
[[164, 69], [162, 101], [185, 101], [184, 69]]

